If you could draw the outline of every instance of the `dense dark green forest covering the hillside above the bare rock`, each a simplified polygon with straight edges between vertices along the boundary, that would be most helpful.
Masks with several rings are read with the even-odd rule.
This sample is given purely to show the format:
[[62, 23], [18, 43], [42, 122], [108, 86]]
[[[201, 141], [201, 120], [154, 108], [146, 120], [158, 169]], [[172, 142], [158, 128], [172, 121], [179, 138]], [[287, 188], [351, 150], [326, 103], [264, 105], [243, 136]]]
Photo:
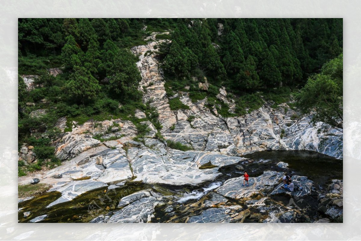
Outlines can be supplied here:
[[[146, 26], [146, 28], [145, 28]], [[138, 56], [130, 48], [146, 44], [152, 32], [167, 39], [157, 46], [167, 95], [187, 91], [192, 101], [219, 102], [222, 117], [296, 100], [295, 108], [316, 110], [314, 121], [342, 130], [343, 20], [340, 18], [19, 18], [18, 143], [34, 146], [38, 163], [19, 162], [19, 175], [59, 165], [51, 145], [60, 131], [55, 124], [123, 118], [142, 136], [145, 127], [134, 117], [143, 110], [160, 130], [157, 113], [142, 103]], [[60, 68], [57, 76], [49, 68]], [[22, 75], [38, 75], [26, 90]], [[208, 80], [208, 91], [192, 82]], [[190, 89], [184, 89], [190, 86]], [[235, 114], [217, 100], [224, 86], [236, 102]], [[29, 104], [30, 103], [30, 104]], [[33, 105], [34, 104], [34, 105]], [[172, 110], [187, 108], [179, 99]], [[31, 111], [46, 114], [31, 117]]]

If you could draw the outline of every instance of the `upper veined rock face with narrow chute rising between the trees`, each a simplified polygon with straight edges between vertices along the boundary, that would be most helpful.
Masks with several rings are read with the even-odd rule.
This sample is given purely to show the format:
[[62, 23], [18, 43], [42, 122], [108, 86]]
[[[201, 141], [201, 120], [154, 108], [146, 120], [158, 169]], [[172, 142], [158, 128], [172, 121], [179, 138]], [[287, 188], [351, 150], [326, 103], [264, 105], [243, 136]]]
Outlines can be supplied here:
[[[156, 32], [148, 39], [155, 39]], [[206, 100], [192, 103], [187, 92], [179, 93], [183, 104], [189, 110], [171, 111], [166, 96], [162, 71], [158, 69], [154, 46], [165, 40], [152, 41], [147, 45], [132, 48], [134, 54], [140, 54], [137, 63], [142, 74], [140, 90], [147, 89], [143, 101], [150, 101], [159, 113], [159, 121], [163, 128], [161, 133], [166, 139], [190, 144], [195, 150], [220, 152], [222, 154], [246, 154], [261, 150], [313, 150], [335, 158], [343, 157], [343, 133], [329, 128], [319, 133], [321, 123], [314, 127], [310, 122], [312, 114], [299, 120], [292, 120], [296, 112], [286, 104], [273, 109], [264, 105], [242, 117], [223, 118], [215, 116], [204, 106]], [[144, 54], [152, 51], [152, 54]], [[149, 85], [152, 83], [152, 85]], [[220, 89], [219, 100], [234, 110], [235, 104], [227, 100], [226, 91]], [[192, 122], [187, 118], [195, 116]], [[169, 129], [173, 124], [173, 131]], [[281, 132], [284, 131], [283, 137]]]

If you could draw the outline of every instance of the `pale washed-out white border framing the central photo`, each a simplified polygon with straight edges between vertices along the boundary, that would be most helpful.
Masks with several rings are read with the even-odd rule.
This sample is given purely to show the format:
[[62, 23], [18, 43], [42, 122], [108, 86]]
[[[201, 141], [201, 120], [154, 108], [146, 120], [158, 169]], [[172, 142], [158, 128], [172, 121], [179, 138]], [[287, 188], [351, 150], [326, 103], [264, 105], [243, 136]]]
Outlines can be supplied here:
[[[4, 240], [359, 240], [361, 239], [361, 1], [2, 0], [0, 21], [0, 238]], [[344, 19], [343, 224], [18, 224], [17, 18], [293, 17]]]

